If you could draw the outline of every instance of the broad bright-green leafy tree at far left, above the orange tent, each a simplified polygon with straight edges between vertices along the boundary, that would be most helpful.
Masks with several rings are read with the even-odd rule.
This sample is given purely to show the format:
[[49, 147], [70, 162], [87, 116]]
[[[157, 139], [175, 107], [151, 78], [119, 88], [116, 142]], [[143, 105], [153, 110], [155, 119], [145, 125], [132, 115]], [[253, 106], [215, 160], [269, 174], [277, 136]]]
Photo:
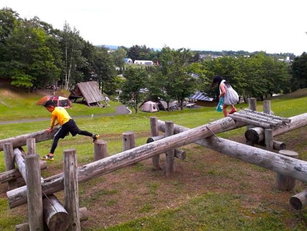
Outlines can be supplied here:
[[[33, 27], [30, 21], [21, 21], [5, 40], [6, 54], [2, 60], [3, 72], [20, 87], [42, 86], [58, 78], [60, 69], [49, 47], [44, 29]], [[28, 80], [27, 80], [28, 78]]]

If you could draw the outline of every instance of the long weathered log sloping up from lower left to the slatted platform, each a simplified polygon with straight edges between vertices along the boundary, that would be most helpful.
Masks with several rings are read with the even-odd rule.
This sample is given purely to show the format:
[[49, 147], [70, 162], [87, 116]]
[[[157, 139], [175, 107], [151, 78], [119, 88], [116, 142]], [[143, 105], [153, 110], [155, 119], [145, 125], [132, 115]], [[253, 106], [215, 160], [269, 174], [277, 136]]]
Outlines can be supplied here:
[[[158, 125], [159, 126], [159, 125]], [[144, 144], [131, 150], [123, 151], [116, 155], [108, 156], [102, 160], [89, 163], [78, 168], [78, 182], [88, 181], [100, 175], [116, 171], [133, 163], [151, 158], [159, 153], [174, 149], [197, 140], [210, 137], [213, 133], [229, 131], [234, 128], [246, 126], [237, 123], [229, 117], [221, 118], [208, 124], [187, 130], [183, 133], [166, 137], [150, 144]], [[210, 130], [208, 129], [210, 127]], [[175, 128], [176, 131], [176, 128]], [[258, 149], [257, 149], [258, 150]], [[306, 177], [307, 178], [307, 177]], [[63, 189], [63, 174], [46, 178], [42, 183], [42, 190], [46, 195], [53, 194]], [[10, 208], [27, 203], [27, 188], [20, 187], [6, 193]]]

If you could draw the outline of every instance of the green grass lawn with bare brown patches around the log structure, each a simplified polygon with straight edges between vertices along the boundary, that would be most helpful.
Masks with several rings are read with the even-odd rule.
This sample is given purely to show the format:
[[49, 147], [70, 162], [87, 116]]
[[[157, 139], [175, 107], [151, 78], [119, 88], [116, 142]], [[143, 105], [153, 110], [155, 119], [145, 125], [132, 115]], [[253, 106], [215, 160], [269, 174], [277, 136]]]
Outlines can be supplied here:
[[[306, 95], [305, 89], [296, 97], [288, 95], [273, 99], [272, 110], [275, 115], [283, 117], [306, 113]], [[12, 103], [7, 97], [1, 100]], [[19, 99], [24, 102], [35, 100], [31, 96]], [[16, 102], [17, 108], [22, 104]], [[29, 105], [29, 110], [16, 109], [12, 103], [10, 109], [21, 110], [23, 118], [28, 118], [35, 115], [30, 110], [34, 106], [38, 107]], [[240, 106], [247, 107], [246, 104]], [[72, 114], [74, 109], [69, 113]], [[0, 110], [3, 110], [2, 106]], [[262, 110], [262, 102], [257, 103], [257, 110]], [[42, 117], [50, 116], [45, 109], [42, 113], [45, 115]], [[86, 111], [81, 109], [79, 113]], [[15, 119], [12, 113], [8, 116]], [[76, 121], [81, 129], [100, 134], [101, 139], [108, 142], [108, 155], [113, 155], [122, 151], [122, 133], [125, 131], [135, 132], [136, 145], [146, 143], [150, 136], [150, 116], [190, 128], [223, 117], [214, 108], [200, 108], [171, 113], [140, 112], [138, 115], [78, 118]], [[48, 126], [46, 121], [0, 125], [0, 130], [5, 131], [0, 133], [0, 139], [43, 130]], [[245, 130], [240, 128], [219, 135], [245, 143]], [[286, 143], [288, 149], [298, 151], [300, 159], [307, 160], [306, 128], [278, 136], [278, 141]], [[47, 154], [50, 144], [51, 141], [37, 143], [37, 153], [40, 156]], [[79, 166], [92, 162], [91, 139], [69, 136], [59, 141], [56, 160], [48, 162], [48, 169], [42, 171], [43, 177], [62, 172], [62, 152], [67, 148], [77, 150]], [[86, 206], [90, 212], [90, 219], [81, 223], [82, 230], [306, 230], [307, 210], [295, 211], [288, 203], [292, 195], [306, 188], [306, 183], [297, 182], [294, 192], [281, 192], [275, 189], [276, 174], [273, 172], [196, 144], [188, 144], [182, 149], [187, 157], [183, 161], [176, 159], [175, 176], [171, 179], [165, 177], [165, 155], [161, 155], [160, 171], [152, 170], [149, 159], [80, 183], [80, 207]], [[3, 152], [0, 152], [0, 172], [4, 169]], [[18, 183], [23, 185], [21, 179]], [[11, 231], [15, 225], [27, 221], [27, 205], [9, 209], [5, 192], [6, 185], [0, 185], [0, 230]], [[63, 192], [56, 195], [63, 201]]]

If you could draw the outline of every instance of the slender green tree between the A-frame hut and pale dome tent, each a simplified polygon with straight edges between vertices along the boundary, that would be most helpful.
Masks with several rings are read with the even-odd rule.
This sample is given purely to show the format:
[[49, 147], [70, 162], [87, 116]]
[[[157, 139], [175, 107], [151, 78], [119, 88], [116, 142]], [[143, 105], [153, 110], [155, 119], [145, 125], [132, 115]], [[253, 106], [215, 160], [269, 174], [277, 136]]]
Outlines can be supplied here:
[[126, 80], [123, 83], [122, 93], [120, 94], [121, 103], [134, 108], [135, 114], [138, 113], [138, 105], [143, 99], [140, 89], [146, 87], [147, 72], [144, 69], [127, 68], [123, 72]]

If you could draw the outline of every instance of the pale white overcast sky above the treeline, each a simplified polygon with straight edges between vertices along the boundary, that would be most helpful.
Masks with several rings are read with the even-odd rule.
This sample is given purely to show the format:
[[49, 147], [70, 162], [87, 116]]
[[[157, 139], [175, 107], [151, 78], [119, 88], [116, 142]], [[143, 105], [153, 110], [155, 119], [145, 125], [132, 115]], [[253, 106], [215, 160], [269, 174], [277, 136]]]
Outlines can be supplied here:
[[76, 27], [93, 45], [307, 51], [306, 0], [0, 0], [22, 18]]

